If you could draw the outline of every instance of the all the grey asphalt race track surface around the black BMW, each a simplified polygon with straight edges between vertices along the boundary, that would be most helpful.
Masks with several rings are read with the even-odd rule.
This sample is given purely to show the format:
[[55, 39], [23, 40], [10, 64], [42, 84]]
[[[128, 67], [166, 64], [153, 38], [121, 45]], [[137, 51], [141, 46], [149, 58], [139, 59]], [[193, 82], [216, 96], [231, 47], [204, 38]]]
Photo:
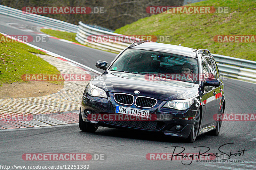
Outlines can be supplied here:
[[[0, 18], [0, 32], [9, 35], [33, 35], [31, 32], [10, 27], [6, 23], [35, 25], [34, 23], [4, 15], [0, 15]], [[101, 70], [95, 67], [97, 60], [106, 60], [110, 63], [116, 56], [114, 53], [68, 44], [56, 39], [49, 39], [46, 43], [31, 44], [98, 71]], [[224, 83], [225, 113], [256, 113], [256, 84], [228, 78], [225, 78]], [[89, 165], [89, 169], [256, 169], [255, 131], [255, 121], [223, 121], [219, 136], [203, 134], [190, 144], [158, 133], [103, 127], [99, 127], [96, 133], [85, 133], [80, 131], [78, 124], [3, 130], [0, 132], [0, 165]], [[240, 156], [232, 155], [230, 159], [223, 158], [227, 159], [223, 160], [226, 162], [218, 160], [215, 163], [146, 159], [147, 153], [172, 153], [174, 147], [171, 146], [185, 148], [184, 153], [198, 153], [199, 148], [193, 148], [198, 146], [209, 147], [210, 151], [207, 153], [220, 153], [218, 150], [220, 146], [222, 146], [220, 150], [227, 154], [240, 153], [239, 151], [244, 149], [250, 151], [244, 151], [244, 155], [240, 154]], [[201, 152], [205, 151], [205, 148], [201, 149]], [[105, 160], [25, 161], [22, 159], [24, 153], [104, 154]]]

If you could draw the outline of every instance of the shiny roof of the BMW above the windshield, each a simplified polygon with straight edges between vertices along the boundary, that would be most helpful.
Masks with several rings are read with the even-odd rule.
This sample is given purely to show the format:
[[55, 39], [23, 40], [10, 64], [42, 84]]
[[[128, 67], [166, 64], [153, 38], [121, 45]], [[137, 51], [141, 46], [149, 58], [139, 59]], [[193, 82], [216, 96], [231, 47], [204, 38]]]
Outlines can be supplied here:
[[152, 50], [152, 51], [158, 51], [158, 52], [164, 52], [164, 53], [174, 53], [174, 54], [196, 58], [196, 49], [188, 48], [184, 46], [176, 46], [171, 44], [144, 42], [139, 45], [134, 45], [130, 48], [141, 49], [141, 50]]

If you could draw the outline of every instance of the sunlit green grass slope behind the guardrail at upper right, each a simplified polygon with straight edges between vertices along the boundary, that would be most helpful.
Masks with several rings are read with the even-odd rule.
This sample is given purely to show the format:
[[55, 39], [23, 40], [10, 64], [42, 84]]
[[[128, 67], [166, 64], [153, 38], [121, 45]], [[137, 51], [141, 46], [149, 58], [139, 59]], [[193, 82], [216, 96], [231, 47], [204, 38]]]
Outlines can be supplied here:
[[[125, 25], [115, 32], [124, 35], [170, 36], [167, 44], [256, 61], [256, 43], [214, 42], [215, 35], [256, 35], [255, 0], [208, 0], [187, 6], [228, 7], [228, 13], [157, 14]], [[145, 9], [146, 10], [146, 9]]]

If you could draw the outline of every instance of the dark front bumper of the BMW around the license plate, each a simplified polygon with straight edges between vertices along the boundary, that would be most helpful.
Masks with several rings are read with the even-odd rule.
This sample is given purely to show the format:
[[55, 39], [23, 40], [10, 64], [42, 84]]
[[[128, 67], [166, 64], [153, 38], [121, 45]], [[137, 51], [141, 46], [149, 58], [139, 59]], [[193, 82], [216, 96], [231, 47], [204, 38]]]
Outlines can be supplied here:
[[[122, 106], [113, 100], [113, 93], [107, 93], [108, 98], [92, 97], [84, 93], [81, 103], [81, 115], [85, 122], [90, 122], [103, 127], [111, 128], [128, 128], [143, 131], [164, 132], [165, 135], [187, 138], [193, 127], [194, 116], [196, 110], [173, 110], [162, 108], [166, 101], [157, 102], [153, 108], [145, 109], [134, 106], [125, 106], [136, 109], [149, 110], [150, 114], [155, 115], [157, 119], [150, 121], [143, 120], [101, 120], [88, 118], [89, 110], [92, 114], [116, 114], [116, 106]], [[177, 130], [176, 125], [180, 125], [181, 129]]]

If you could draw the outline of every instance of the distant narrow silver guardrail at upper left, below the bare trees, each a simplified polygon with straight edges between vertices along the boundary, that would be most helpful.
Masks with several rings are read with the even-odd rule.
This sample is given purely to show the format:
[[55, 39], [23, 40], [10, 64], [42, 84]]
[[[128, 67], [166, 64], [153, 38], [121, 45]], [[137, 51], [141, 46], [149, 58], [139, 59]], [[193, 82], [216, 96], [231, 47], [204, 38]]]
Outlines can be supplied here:
[[41, 15], [25, 13], [24, 11], [17, 10], [11, 7], [7, 7], [4, 5], [0, 5], [0, 14], [11, 16], [14, 18], [19, 18], [26, 21], [31, 21], [34, 23], [38, 23], [44, 26], [48, 26], [51, 28], [61, 29], [69, 32], [76, 32], [78, 26], [74, 24], [70, 24], [64, 21], [60, 21], [57, 19], [52, 19], [49, 17], [44, 17]]

